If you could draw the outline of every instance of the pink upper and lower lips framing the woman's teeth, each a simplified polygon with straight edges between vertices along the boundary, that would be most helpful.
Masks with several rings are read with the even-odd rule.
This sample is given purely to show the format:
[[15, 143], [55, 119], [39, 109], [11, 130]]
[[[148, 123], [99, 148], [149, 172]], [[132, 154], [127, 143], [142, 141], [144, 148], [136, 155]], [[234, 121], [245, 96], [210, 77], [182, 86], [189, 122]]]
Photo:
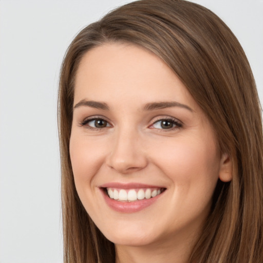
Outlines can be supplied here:
[[135, 213], [139, 212], [148, 206], [152, 205], [154, 202], [156, 202], [163, 193], [149, 198], [149, 199], [143, 199], [143, 200], [137, 200], [133, 202], [125, 202], [125, 201], [117, 201], [115, 199], [111, 199], [106, 193], [105, 193], [105, 188], [107, 187], [112, 187], [116, 189], [138, 189], [138, 188], [163, 188], [160, 186], [155, 186], [155, 185], [148, 185], [148, 184], [141, 184], [141, 183], [128, 183], [128, 184], [123, 184], [123, 183], [106, 183], [100, 186], [101, 193], [104, 197], [105, 202], [107, 205], [112, 209], [117, 212], [121, 213]]

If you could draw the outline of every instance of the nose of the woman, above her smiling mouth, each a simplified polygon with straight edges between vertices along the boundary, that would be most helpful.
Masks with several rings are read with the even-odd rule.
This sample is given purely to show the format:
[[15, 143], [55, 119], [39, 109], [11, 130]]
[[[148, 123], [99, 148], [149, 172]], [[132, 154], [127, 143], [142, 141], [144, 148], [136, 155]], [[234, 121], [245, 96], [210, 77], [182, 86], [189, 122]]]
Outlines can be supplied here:
[[147, 166], [147, 156], [136, 132], [115, 134], [106, 164], [120, 174], [129, 174]]

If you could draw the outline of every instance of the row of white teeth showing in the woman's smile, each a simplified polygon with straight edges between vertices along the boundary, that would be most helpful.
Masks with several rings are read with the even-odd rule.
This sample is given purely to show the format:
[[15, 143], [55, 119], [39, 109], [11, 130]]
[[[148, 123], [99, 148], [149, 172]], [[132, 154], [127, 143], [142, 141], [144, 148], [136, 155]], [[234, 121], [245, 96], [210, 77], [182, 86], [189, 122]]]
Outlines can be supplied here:
[[160, 189], [149, 189], [147, 188], [144, 192], [143, 189], [139, 189], [138, 192], [135, 191], [135, 189], [131, 190], [124, 190], [124, 189], [111, 189], [107, 188], [108, 195], [111, 199], [115, 199], [118, 201], [136, 201], [136, 200], [142, 200], [144, 198], [149, 199], [151, 197], [155, 197], [159, 194], [161, 194]]

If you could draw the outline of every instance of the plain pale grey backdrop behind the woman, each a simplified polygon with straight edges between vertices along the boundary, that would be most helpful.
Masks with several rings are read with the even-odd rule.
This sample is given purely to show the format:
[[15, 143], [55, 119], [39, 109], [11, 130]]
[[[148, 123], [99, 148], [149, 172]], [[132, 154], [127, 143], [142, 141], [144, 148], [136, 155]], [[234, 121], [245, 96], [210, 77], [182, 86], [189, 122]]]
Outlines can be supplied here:
[[[0, 0], [0, 263], [62, 262], [57, 90], [74, 35], [120, 0]], [[263, 1], [195, 0], [236, 34], [263, 102]]]

